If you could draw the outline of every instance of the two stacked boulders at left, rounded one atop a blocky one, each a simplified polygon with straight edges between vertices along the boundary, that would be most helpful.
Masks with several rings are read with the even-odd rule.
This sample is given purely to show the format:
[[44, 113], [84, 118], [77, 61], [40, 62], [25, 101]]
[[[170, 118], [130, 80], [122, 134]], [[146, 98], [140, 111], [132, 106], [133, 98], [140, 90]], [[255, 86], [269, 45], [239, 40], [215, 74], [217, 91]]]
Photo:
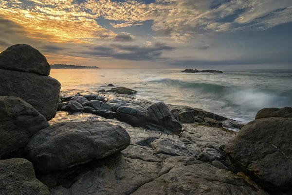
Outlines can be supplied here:
[[29, 45], [13, 45], [0, 53], [0, 96], [17, 96], [49, 121], [55, 117], [60, 83], [48, 76], [46, 58]]

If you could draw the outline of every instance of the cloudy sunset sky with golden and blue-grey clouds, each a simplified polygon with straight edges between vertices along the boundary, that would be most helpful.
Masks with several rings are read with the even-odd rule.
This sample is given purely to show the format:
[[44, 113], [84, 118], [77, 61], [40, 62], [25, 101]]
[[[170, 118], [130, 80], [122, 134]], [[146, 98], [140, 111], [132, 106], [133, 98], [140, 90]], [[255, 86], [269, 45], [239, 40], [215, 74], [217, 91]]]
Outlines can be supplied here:
[[0, 52], [50, 64], [292, 69], [292, 0], [0, 0]]

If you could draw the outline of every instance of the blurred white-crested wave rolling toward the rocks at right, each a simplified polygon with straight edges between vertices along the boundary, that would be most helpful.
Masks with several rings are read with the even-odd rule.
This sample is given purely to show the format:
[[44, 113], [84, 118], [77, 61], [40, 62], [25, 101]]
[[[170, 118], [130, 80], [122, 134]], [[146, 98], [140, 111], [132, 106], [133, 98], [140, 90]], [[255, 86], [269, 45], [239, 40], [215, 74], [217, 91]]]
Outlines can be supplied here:
[[210, 104], [217, 102], [221, 108], [244, 107], [245, 110], [259, 110], [263, 107], [292, 106], [292, 89], [269, 91], [154, 77], [147, 83], [166, 85], [167, 90], [172, 89], [173, 92], [186, 94], [198, 101], [213, 101]]

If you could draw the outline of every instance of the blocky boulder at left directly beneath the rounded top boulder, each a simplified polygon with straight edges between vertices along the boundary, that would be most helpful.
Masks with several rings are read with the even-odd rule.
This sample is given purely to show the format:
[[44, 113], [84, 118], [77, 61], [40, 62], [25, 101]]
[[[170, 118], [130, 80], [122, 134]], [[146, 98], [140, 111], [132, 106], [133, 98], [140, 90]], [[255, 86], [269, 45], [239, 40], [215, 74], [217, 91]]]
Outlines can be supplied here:
[[0, 69], [0, 96], [17, 96], [48, 121], [55, 117], [61, 85], [50, 76]]

